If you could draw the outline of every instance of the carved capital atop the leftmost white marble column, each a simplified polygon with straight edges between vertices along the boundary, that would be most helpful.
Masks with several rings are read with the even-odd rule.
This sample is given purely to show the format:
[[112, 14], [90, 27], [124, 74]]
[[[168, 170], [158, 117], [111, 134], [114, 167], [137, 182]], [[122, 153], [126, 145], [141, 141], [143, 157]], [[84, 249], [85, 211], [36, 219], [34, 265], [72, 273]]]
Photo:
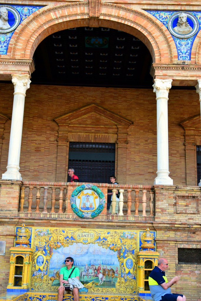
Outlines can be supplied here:
[[30, 76], [28, 74], [11, 74], [12, 83], [14, 85], [14, 94], [23, 94], [26, 96], [26, 91], [30, 87]]

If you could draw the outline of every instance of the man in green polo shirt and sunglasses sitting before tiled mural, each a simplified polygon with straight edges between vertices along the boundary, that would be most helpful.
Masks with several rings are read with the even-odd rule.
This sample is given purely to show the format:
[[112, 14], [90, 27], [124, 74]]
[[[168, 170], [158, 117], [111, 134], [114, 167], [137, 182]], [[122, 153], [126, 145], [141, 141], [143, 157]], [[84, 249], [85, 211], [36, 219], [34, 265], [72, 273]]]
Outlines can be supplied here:
[[[79, 301], [79, 290], [77, 287], [74, 287], [73, 291], [71, 290], [66, 291], [64, 287], [64, 284], [68, 284], [69, 275], [71, 274], [74, 268], [73, 263], [74, 263], [74, 259], [72, 257], [67, 257], [65, 259], [66, 266], [64, 268], [61, 268], [60, 270], [60, 276], [59, 276], [60, 287], [58, 288], [58, 301], [63, 300], [63, 296], [65, 293], [72, 293], [74, 297], [74, 301]], [[74, 268], [74, 271], [72, 272], [70, 278], [74, 278], [74, 277], [80, 280], [80, 271], [78, 268]]]

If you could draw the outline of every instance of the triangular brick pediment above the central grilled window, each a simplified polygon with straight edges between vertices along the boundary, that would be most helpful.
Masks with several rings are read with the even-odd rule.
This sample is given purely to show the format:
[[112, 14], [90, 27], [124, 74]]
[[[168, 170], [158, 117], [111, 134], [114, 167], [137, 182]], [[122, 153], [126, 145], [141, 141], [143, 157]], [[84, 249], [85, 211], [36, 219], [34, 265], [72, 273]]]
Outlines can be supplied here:
[[113, 113], [97, 104], [90, 104], [74, 112], [68, 113], [61, 117], [54, 119], [59, 126], [74, 125], [74, 124], [87, 124], [87, 125], [111, 125], [114, 126], [130, 126], [133, 124], [128, 120], [116, 113]]

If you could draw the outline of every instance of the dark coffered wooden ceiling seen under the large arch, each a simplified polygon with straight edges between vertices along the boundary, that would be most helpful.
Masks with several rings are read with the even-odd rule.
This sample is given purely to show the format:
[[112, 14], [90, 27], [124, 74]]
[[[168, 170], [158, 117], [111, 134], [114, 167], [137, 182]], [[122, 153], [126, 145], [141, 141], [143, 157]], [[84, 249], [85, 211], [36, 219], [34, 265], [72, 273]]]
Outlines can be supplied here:
[[152, 88], [151, 55], [136, 37], [103, 27], [77, 27], [43, 40], [34, 84]]

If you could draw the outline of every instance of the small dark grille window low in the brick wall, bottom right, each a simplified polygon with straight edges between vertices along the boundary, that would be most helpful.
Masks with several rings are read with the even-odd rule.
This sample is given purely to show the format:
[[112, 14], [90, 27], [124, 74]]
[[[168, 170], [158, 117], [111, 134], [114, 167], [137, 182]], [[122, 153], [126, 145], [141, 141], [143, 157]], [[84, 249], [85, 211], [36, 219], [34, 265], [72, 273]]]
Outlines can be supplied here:
[[178, 263], [201, 264], [201, 250], [178, 248]]

